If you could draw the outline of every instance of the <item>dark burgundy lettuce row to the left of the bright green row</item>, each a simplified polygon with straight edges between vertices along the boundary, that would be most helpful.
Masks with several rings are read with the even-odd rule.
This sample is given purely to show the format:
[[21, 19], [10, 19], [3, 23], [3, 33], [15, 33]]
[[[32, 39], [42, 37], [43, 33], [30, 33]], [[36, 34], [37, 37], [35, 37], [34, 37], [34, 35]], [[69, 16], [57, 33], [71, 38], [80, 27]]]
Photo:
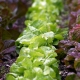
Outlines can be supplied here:
[[25, 2], [25, 0], [0, 0], [0, 78], [9, 71], [9, 66], [17, 57], [15, 40], [24, 28], [23, 16], [30, 5]]

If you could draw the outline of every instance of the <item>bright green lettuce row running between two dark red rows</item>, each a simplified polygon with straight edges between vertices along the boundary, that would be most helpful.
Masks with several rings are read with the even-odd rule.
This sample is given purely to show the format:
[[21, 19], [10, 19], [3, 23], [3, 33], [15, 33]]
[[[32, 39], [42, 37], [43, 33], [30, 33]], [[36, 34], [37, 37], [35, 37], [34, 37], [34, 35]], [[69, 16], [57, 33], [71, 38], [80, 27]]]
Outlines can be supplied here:
[[6, 80], [61, 80], [53, 45], [63, 39], [57, 25], [61, 0], [34, 0], [25, 21], [26, 28], [16, 40], [19, 57]]

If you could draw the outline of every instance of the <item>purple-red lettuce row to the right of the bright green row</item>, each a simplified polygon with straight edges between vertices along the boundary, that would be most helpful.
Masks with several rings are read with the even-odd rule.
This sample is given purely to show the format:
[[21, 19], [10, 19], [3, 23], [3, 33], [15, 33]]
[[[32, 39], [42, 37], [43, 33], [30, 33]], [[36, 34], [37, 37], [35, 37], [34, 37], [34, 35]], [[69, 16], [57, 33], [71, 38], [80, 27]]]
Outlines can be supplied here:
[[58, 59], [68, 72], [65, 80], [80, 80], [80, 0], [67, 0], [70, 8], [69, 34], [59, 43]]

